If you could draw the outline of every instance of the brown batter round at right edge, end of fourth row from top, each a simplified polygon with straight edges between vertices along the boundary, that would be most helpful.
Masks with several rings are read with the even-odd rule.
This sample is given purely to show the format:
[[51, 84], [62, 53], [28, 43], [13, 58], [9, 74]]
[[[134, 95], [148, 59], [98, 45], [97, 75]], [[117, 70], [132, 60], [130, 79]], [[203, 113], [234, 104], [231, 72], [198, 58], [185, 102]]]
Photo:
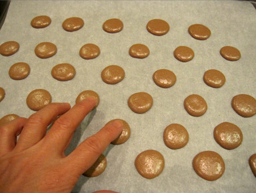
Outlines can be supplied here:
[[250, 117], [256, 114], [256, 100], [247, 94], [239, 94], [233, 97], [232, 108], [238, 115]]

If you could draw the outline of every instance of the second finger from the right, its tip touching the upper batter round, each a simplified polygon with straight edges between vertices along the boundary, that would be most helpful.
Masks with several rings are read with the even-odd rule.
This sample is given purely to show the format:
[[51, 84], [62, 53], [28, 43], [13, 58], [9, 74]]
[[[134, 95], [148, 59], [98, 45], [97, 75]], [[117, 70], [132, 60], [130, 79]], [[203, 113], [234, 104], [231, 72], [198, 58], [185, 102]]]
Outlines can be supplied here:
[[60, 116], [50, 128], [48, 134], [46, 134], [44, 138], [45, 146], [54, 147], [54, 150], [62, 154], [73, 132], [95, 105], [96, 99], [88, 97]]

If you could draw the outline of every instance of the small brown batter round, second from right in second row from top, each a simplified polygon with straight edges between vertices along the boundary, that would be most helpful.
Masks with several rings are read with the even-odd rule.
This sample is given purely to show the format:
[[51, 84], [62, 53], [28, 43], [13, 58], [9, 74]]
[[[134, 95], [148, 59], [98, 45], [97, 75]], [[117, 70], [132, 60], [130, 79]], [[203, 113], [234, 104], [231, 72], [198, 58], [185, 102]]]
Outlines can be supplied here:
[[194, 51], [187, 46], [179, 46], [174, 50], [174, 57], [181, 62], [188, 62], [194, 58]]

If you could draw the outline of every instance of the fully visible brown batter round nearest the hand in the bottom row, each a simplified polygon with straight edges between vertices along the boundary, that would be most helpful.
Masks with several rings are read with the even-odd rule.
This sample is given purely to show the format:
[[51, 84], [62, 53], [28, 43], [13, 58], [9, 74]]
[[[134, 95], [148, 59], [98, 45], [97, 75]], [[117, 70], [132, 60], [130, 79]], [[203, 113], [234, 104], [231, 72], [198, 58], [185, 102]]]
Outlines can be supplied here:
[[164, 157], [156, 150], [143, 151], [137, 155], [135, 167], [144, 178], [156, 178], [164, 169]]

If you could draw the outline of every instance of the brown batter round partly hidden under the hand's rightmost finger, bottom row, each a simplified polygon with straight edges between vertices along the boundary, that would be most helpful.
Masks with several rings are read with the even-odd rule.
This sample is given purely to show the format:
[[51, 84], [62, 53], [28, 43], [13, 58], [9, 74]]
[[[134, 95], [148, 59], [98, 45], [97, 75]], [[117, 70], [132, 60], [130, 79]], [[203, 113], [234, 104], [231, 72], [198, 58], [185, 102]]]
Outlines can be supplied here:
[[96, 177], [98, 175], [101, 175], [105, 171], [106, 167], [107, 158], [105, 157], [105, 155], [101, 154], [96, 162], [86, 172], [84, 172], [83, 175], [90, 178]]

